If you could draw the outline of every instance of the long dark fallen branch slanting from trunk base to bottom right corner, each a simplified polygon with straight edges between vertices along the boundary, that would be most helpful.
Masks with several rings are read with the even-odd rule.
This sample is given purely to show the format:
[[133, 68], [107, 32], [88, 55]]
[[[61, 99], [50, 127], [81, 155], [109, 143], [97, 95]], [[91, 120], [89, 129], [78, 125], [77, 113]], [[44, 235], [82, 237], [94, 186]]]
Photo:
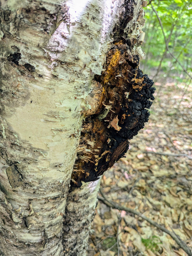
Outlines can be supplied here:
[[144, 216], [144, 214], [140, 213], [140, 212], [137, 212], [136, 210], [134, 209], [131, 209], [131, 208], [128, 208], [128, 207], [125, 207], [125, 206], [122, 206], [122, 205], [119, 205], [117, 204], [116, 202], [113, 202], [111, 200], [108, 200], [106, 198], [106, 196], [103, 194], [103, 192], [99, 191], [102, 195], [101, 196], [98, 196], [98, 200], [102, 201], [104, 204], [106, 204], [107, 206], [113, 208], [113, 209], [118, 209], [118, 210], [123, 210], [125, 212], [129, 212], [129, 213], [133, 213], [137, 216], [139, 216], [140, 218], [144, 219], [145, 221], [149, 222], [151, 225], [157, 227], [157, 229], [160, 229], [162, 230], [163, 232], [165, 232], [166, 234], [170, 235], [171, 238], [173, 238], [173, 240], [175, 240], [175, 242], [178, 244], [178, 246], [180, 248], [182, 248], [189, 256], [192, 256], [192, 252], [191, 252], [191, 249], [187, 246], [186, 243], [183, 242], [183, 240], [180, 239], [180, 237], [178, 235], [176, 235], [174, 232], [171, 232], [169, 231], [168, 229], [166, 229], [165, 227], [159, 225], [157, 222], [155, 221], [152, 221], [152, 219], [149, 219], [147, 218], [146, 216]]

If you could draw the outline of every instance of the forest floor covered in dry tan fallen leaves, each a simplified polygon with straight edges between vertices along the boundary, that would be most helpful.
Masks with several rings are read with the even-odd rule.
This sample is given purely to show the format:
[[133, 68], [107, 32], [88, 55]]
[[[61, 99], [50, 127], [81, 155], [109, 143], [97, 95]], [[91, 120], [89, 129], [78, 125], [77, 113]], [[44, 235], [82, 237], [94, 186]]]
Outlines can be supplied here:
[[[192, 248], [192, 85], [156, 83], [144, 129], [125, 158], [104, 173], [107, 199], [132, 208], [174, 231]], [[101, 196], [101, 195], [100, 195]], [[165, 232], [100, 200], [89, 256], [187, 256]]]

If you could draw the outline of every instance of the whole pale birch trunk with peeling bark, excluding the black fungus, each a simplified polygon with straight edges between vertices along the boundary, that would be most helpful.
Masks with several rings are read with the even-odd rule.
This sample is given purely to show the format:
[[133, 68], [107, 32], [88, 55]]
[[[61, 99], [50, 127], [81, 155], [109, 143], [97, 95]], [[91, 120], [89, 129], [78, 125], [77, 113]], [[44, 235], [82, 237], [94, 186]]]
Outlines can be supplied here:
[[0, 252], [86, 255], [99, 180], [70, 188], [82, 121], [114, 40], [143, 54], [142, 1], [1, 0], [0, 21]]

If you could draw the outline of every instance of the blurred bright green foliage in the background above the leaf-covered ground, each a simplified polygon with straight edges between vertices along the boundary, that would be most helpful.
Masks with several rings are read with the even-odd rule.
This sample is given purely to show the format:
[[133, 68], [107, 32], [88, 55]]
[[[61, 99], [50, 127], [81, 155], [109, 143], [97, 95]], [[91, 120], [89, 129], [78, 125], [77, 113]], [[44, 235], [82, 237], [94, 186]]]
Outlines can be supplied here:
[[[151, 1], [153, 8], [156, 10], [161, 20], [166, 42], [169, 51], [173, 54], [188, 73], [192, 72], [192, 3], [191, 0], [166, 0]], [[146, 12], [146, 32], [143, 50], [146, 57], [141, 61], [144, 65], [143, 69], [159, 69], [169, 76], [173, 74], [178, 78], [186, 74], [183, 69], [171, 57], [166, 49], [162, 28], [158, 21], [156, 13], [149, 4], [144, 9]]]

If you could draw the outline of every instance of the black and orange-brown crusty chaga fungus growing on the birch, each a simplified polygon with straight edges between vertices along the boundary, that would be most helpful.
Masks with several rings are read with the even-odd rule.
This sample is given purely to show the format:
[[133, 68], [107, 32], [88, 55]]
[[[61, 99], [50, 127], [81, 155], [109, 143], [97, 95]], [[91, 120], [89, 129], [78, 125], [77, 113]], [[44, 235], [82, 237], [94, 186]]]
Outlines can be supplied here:
[[116, 43], [107, 54], [105, 71], [95, 76], [92, 107], [85, 113], [72, 173], [73, 186], [97, 180], [123, 157], [129, 140], [148, 121], [155, 91], [152, 85], [139, 69], [139, 57], [131, 56], [126, 44]]

